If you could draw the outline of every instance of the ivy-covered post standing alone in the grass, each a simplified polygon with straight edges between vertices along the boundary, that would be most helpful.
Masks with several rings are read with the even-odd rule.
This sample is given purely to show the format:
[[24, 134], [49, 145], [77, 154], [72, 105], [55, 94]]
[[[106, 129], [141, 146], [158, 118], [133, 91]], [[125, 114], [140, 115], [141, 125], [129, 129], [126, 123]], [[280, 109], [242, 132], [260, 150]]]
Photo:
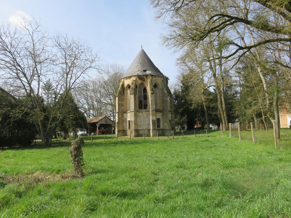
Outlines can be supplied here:
[[71, 155], [71, 162], [76, 176], [82, 177], [84, 175], [82, 166], [84, 165], [82, 145], [84, 140], [82, 136], [78, 136], [70, 146], [69, 153]]

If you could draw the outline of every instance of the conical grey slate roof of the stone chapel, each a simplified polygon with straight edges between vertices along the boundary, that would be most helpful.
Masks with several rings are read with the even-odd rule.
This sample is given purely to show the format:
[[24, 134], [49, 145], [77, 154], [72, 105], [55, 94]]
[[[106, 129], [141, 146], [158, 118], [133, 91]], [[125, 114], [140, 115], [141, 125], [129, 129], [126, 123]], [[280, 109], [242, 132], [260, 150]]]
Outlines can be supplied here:
[[148, 57], [142, 47], [138, 52], [138, 55], [136, 55], [135, 59], [129, 66], [129, 69], [124, 73], [123, 78], [145, 74], [164, 76], [162, 72], [153, 64], [153, 61]]

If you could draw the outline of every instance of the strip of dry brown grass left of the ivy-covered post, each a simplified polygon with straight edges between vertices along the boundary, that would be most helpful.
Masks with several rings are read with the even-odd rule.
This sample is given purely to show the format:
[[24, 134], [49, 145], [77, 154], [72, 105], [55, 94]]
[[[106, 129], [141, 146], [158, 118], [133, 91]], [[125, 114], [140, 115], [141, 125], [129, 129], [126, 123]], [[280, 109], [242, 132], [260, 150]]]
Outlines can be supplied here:
[[39, 183], [51, 183], [51, 182], [63, 182], [70, 179], [77, 178], [73, 172], [66, 173], [48, 173], [36, 171], [34, 173], [14, 174], [12, 176], [6, 176], [0, 174], [0, 187], [7, 184], [39, 184]]

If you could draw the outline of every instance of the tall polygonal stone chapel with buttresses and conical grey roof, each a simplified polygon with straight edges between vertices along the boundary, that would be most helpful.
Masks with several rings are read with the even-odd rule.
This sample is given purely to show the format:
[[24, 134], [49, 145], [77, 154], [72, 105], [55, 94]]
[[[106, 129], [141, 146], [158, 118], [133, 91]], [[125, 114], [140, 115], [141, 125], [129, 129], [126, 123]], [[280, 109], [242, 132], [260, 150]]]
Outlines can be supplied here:
[[175, 130], [174, 104], [168, 78], [143, 50], [119, 80], [116, 134], [156, 136]]

